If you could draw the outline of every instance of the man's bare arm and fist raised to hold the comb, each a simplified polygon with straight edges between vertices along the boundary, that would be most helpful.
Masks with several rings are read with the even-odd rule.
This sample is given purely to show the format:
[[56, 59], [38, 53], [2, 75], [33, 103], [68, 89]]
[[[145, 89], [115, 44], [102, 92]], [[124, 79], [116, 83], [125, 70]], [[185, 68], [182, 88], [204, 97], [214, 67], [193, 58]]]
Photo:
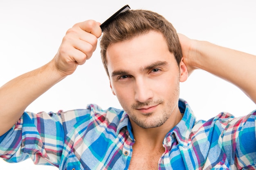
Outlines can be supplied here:
[[75, 24], [67, 31], [52, 61], [0, 87], [0, 135], [17, 122], [31, 102], [90, 59], [100, 36], [98, 22]]

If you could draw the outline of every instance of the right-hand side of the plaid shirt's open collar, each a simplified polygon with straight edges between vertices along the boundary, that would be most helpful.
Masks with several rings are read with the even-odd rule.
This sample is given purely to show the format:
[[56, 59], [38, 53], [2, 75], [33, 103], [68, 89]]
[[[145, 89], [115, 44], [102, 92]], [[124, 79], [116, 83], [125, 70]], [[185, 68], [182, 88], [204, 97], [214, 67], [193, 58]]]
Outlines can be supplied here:
[[167, 147], [171, 146], [176, 137], [179, 144], [186, 148], [189, 142], [189, 135], [195, 124], [195, 116], [193, 115], [193, 111], [185, 100], [179, 100], [179, 109], [180, 112], [183, 113], [183, 118], [176, 126], [173, 127], [173, 129], [171, 129], [171, 131], [166, 134], [163, 144]]

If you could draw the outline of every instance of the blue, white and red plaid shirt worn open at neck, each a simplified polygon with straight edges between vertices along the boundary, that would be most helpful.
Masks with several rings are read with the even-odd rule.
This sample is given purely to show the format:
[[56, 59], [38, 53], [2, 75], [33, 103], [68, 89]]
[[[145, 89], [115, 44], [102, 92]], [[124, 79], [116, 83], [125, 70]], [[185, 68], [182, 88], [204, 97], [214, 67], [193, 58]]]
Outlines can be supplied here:
[[[164, 138], [159, 169], [256, 169], [256, 111], [196, 121], [185, 101], [179, 101], [179, 108], [184, 116]], [[67, 112], [25, 112], [0, 137], [0, 157], [8, 162], [31, 157], [37, 164], [67, 170], [121, 170], [128, 169], [134, 142], [123, 110], [88, 105]]]

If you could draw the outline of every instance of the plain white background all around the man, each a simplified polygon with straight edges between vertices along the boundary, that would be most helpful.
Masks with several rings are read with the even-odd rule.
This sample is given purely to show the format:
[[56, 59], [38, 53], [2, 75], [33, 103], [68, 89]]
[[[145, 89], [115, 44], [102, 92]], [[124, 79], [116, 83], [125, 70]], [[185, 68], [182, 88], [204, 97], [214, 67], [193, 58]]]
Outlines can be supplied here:
[[[177, 32], [190, 38], [256, 54], [254, 0], [0, 0], [0, 86], [49, 62], [76, 22], [103, 22], [125, 4], [164, 15]], [[195, 71], [180, 88], [180, 97], [189, 102], [198, 119], [209, 119], [221, 111], [243, 116], [256, 109], [240, 89], [202, 70]], [[26, 111], [80, 109], [88, 103], [120, 108], [109, 88], [99, 48], [92, 59]], [[56, 169], [34, 166], [30, 159], [15, 164], [0, 159], [0, 169], [36, 168]]]

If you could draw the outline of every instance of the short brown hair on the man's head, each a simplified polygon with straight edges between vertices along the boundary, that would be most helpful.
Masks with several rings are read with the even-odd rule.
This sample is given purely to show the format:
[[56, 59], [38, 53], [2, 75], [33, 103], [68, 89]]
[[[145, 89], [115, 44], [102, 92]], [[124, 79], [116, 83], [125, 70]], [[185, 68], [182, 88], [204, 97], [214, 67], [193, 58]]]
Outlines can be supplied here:
[[162, 15], [147, 10], [130, 10], [118, 15], [110, 24], [104, 27], [101, 37], [101, 59], [109, 76], [106, 51], [111, 44], [126, 41], [136, 36], [157, 31], [166, 38], [169, 51], [173, 53], [177, 64], [182, 59], [179, 37], [173, 25]]

